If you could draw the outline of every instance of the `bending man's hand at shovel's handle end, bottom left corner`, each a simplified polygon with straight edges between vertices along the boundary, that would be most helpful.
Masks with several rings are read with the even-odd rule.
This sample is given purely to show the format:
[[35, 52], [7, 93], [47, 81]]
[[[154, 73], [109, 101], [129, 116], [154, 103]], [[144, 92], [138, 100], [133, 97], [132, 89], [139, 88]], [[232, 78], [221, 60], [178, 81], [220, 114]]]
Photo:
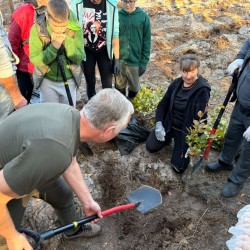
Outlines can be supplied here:
[[11, 238], [6, 238], [7, 246], [9, 250], [32, 250], [33, 248], [29, 244], [24, 234], [16, 233], [11, 235]]

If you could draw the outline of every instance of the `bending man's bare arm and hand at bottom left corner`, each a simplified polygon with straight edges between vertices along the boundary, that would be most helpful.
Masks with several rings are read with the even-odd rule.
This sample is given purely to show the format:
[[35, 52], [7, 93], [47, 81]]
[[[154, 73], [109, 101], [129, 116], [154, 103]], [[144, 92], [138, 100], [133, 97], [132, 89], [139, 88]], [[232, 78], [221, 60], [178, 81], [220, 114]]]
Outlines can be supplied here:
[[14, 226], [9, 214], [7, 203], [18, 195], [14, 193], [0, 171], [0, 234], [5, 237], [9, 250], [31, 250], [29, 242], [23, 234], [20, 234]]

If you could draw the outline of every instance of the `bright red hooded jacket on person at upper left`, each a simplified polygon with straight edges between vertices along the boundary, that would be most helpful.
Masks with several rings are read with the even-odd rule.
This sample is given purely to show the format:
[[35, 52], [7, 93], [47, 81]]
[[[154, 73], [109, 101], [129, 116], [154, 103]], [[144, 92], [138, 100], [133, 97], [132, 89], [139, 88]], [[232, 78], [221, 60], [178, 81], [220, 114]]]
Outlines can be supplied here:
[[9, 28], [9, 41], [14, 53], [20, 62], [17, 69], [22, 72], [33, 73], [34, 65], [29, 59], [30, 29], [34, 24], [35, 7], [31, 3], [25, 3], [18, 7], [11, 16]]

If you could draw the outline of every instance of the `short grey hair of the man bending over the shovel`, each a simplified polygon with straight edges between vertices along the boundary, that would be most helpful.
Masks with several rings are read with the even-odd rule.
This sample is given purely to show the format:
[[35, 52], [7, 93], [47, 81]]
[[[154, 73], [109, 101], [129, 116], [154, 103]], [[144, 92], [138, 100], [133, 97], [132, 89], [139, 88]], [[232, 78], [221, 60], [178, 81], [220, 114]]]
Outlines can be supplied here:
[[96, 129], [117, 124], [122, 127], [133, 114], [132, 103], [116, 89], [102, 89], [83, 107], [82, 113]]

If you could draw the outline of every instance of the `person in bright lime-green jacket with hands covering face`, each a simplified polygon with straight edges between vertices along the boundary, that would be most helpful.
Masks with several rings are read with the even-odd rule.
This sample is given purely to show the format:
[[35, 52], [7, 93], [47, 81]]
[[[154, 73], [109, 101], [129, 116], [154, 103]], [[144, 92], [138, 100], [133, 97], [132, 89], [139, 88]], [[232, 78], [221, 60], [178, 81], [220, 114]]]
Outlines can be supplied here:
[[35, 85], [40, 87], [41, 102], [68, 104], [58, 53], [62, 54], [63, 68], [75, 106], [76, 89], [80, 84], [77, 80], [80, 78], [76, 77], [74, 69], [79, 71], [80, 63], [85, 58], [83, 32], [65, 0], [49, 0], [45, 17], [36, 20], [30, 33], [30, 61], [35, 65], [33, 79]]

